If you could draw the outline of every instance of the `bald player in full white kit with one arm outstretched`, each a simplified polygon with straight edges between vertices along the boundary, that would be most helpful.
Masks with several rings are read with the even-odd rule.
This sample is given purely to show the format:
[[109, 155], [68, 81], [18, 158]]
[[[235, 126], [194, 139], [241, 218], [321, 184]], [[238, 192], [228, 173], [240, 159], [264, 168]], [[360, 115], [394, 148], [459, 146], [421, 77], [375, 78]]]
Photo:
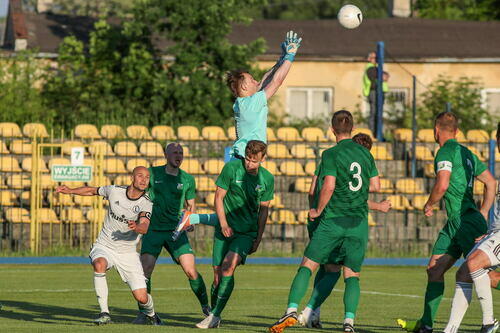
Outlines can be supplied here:
[[152, 325], [162, 325], [153, 308], [153, 299], [146, 291], [146, 278], [137, 253], [137, 243], [149, 227], [153, 203], [146, 194], [149, 185], [149, 170], [136, 167], [130, 186], [83, 186], [71, 189], [59, 186], [56, 191], [63, 194], [100, 195], [109, 201], [104, 224], [90, 251], [94, 267], [94, 287], [101, 312], [94, 321], [96, 325], [111, 322], [108, 309], [108, 284], [106, 271], [115, 267], [123, 282], [127, 283], [140, 311]]

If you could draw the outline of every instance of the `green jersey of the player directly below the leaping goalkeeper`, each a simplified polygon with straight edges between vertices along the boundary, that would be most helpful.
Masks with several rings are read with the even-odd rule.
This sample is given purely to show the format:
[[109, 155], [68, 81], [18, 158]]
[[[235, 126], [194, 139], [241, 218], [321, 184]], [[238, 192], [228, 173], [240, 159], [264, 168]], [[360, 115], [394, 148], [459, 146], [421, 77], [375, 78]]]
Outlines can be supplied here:
[[273, 199], [274, 177], [262, 166], [257, 175], [249, 174], [243, 160], [224, 165], [215, 184], [227, 191], [224, 212], [236, 233], [257, 235], [260, 203]]

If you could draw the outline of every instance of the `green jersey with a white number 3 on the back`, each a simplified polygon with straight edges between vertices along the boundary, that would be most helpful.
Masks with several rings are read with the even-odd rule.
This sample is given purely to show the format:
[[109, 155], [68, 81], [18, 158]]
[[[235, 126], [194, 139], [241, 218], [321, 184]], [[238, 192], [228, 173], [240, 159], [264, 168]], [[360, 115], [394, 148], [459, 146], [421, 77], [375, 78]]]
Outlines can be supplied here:
[[351, 139], [340, 141], [321, 156], [316, 198], [325, 176], [335, 177], [335, 191], [322, 213], [322, 218], [368, 217], [370, 178], [378, 176], [372, 154]]

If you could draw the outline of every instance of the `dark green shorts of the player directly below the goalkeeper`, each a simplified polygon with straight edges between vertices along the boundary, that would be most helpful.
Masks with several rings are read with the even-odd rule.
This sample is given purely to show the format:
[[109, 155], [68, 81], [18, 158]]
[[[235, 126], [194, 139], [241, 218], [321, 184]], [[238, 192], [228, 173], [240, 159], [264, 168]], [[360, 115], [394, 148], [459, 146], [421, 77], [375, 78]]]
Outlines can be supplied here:
[[229, 251], [239, 254], [240, 265], [245, 264], [247, 255], [253, 247], [255, 237], [246, 234], [233, 234], [232, 237], [225, 237], [220, 230], [214, 233], [214, 248], [212, 252], [212, 265], [220, 266]]

